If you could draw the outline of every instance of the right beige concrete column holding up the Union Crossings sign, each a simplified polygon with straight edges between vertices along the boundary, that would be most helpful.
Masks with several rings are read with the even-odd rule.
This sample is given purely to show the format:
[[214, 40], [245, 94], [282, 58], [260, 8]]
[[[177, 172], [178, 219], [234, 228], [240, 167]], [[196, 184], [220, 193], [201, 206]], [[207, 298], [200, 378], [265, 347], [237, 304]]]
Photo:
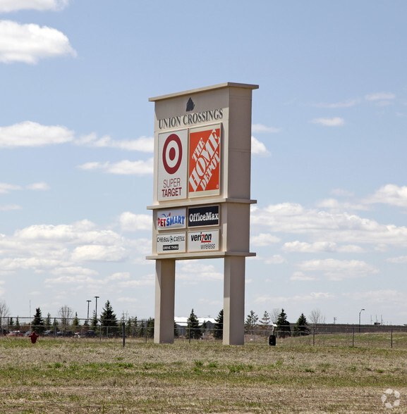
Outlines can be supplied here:
[[245, 342], [245, 256], [224, 259], [224, 345]]

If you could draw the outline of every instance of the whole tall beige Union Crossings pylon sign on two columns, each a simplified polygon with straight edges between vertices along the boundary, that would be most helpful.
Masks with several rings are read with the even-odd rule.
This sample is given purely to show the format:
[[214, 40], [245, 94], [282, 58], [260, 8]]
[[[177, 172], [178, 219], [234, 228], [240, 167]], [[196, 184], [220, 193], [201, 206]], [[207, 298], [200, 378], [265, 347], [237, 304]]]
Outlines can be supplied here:
[[174, 342], [177, 260], [224, 259], [225, 345], [244, 344], [252, 91], [226, 82], [154, 102], [154, 342]]

